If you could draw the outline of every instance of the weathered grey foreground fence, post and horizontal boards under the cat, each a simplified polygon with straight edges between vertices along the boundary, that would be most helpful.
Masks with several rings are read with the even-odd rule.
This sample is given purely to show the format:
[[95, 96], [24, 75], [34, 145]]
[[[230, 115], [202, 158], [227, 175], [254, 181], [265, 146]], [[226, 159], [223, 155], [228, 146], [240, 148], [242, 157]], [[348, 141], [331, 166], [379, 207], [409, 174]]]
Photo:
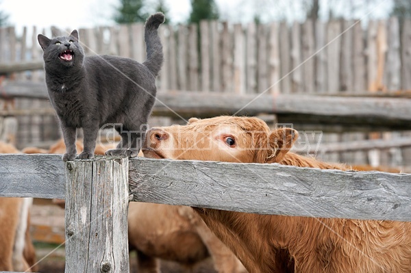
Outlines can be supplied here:
[[0, 155], [0, 196], [65, 198], [66, 273], [129, 272], [129, 200], [248, 213], [411, 221], [411, 174]]

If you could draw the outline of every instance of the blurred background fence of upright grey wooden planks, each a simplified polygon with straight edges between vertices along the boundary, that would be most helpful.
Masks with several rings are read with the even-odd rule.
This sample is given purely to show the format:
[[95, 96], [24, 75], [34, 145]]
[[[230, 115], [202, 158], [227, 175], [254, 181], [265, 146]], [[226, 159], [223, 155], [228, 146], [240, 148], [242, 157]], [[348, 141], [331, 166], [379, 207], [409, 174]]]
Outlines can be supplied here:
[[[21, 81], [44, 81], [38, 32], [47, 36], [72, 29], [0, 28], [0, 74]], [[158, 77], [160, 92], [223, 92], [247, 94], [358, 94], [411, 90], [411, 21], [397, 18], [369, 21], [329, 21], [256, 25], [203, 21], [197, 25], [162, 25], [159, 29], [165, 62]], [[141, 23], [79, 29], [88, 54], [114, 54], [145, 59]], [[16, 33], [21, 35], [17, 35]], [[9, 77], [10, 81], [10, 77]], [[1, 89], [1, 85], [0, 85]], [[401, 91], [402, 90], [402, 91]], [[1, 91], [1, 90], [0, 90]], [[18, 99], [18, 109], [44, 108], [48, 101]], [[46, 122], [52, 126], [36, 129]], [[18, 118], [19, 140], [36, 143], [58, 135], [53, 116]], [[29, 128], [29, 129], [26, 129]], [[299, 129], [299, 128], [296, 128]], [[395, 133], [400, 134], [400, 133]], [[401, 133], [404, 134], [404, 133]], [[406, 134], [406, 133], [405, 133]], [[25, 140], [30, 135], [32, 141]], [[409, 137], [409, 135], [406, 135]], [[391, 138], [388, 134], [325, 135], [325, 142]], [[37, 140], [37, 141], [33, 141]], [[411, 162], [410, 148], [393, 152], [397, 161]], [[393, 153], [382, 153], [386, 164]], [[325, 160], [363, 162], [364, 153], [332, 153]]]

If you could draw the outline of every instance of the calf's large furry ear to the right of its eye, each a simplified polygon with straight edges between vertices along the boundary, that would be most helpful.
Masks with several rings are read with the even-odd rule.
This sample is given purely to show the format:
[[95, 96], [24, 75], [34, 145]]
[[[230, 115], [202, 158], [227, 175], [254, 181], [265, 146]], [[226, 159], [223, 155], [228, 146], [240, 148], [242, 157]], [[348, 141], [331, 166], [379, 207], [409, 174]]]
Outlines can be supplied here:
[[286, 153], [290, 151], [292, 145], [298, 138], [298, 132], [291, 128], [280, 128], [271, 131], [269, 144], [273, 153], [269, 155], [267, 163], [282, 161]]

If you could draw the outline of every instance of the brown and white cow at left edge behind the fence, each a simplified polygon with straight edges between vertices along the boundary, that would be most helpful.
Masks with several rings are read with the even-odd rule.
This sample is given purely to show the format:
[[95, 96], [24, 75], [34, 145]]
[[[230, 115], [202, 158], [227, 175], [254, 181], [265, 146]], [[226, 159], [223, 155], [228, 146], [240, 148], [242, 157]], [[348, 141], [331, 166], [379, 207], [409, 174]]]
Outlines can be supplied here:
[[[20, 153], [0, 142], [0, 153]], [[0, 198], [0, 271], [37, 270], [36, 253], [29, 233], [32, 198]]]

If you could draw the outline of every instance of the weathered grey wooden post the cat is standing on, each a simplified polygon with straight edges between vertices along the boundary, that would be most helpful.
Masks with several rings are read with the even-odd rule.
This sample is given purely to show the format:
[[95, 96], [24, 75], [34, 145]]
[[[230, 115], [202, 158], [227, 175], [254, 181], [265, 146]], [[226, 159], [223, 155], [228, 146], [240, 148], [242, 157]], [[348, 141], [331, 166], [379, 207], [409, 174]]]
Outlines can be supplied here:
[[129, 272], [128, 159], [66, 162], [66, 273]]

